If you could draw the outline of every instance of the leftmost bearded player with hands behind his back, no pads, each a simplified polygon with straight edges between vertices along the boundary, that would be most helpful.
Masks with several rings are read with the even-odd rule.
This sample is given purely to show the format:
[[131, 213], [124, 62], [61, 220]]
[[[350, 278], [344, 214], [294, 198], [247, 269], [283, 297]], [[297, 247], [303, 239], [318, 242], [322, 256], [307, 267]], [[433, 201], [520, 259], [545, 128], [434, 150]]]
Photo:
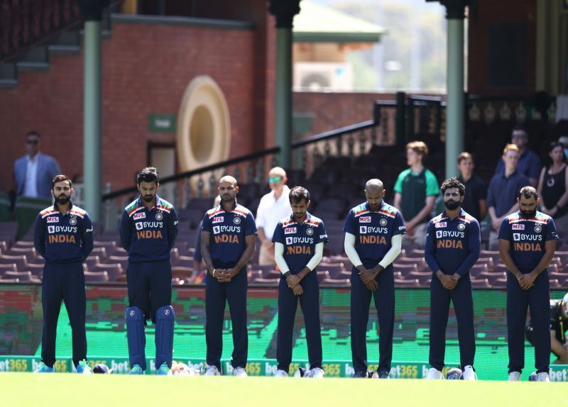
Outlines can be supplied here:
[[45, 259], [41, 281], [43, 334], [41, 362], [35, 372], [55, 372], [55, 334], [61, 301], [65, 303], [72, 330], [73, 364], [77, 373], [91, 374], [87, 365], [84, 328], [87, 299], [83, 262], [93, 250], [93, 226], [89, 214], [71, 203], [71, 179], [57, 175], [51, 182], [55, 204], [35, 219], [34, 247]]

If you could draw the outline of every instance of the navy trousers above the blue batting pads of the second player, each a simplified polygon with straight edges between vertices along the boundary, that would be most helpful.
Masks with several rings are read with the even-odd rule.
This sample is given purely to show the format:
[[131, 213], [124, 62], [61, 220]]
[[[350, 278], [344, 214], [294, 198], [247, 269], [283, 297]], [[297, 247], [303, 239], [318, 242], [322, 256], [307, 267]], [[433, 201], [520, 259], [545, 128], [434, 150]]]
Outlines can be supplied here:
[[155, 311], [172, 303], [170, 260], [129, 262], [126, 267], [129, 306], [141, 308], [145, 319], [155, 323]]

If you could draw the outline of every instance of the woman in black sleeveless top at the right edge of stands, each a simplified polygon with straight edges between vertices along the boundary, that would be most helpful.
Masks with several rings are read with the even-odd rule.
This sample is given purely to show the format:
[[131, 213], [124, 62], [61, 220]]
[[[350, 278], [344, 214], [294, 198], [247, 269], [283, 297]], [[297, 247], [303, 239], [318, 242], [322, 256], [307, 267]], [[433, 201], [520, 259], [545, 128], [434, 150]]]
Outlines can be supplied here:
[[548, 156], [552, 163], [540, 172], [538, 194], [540, 210], [555, 220], [557, 230], [568, 230], [568, 166], [561, 143], [551, 143]]

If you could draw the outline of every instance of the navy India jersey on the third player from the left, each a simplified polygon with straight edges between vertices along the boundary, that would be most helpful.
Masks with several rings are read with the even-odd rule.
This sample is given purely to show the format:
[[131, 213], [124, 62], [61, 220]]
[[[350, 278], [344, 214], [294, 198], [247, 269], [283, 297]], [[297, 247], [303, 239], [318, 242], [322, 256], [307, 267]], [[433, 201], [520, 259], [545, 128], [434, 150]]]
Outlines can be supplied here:
[[216, 268], [234, 267], [246, 249], [245, 237], [256, 235], [253, 214], [239, 204], [229, 212], [221, 205], [209, 209], [201, 228], [211, 233], [209, 252]]

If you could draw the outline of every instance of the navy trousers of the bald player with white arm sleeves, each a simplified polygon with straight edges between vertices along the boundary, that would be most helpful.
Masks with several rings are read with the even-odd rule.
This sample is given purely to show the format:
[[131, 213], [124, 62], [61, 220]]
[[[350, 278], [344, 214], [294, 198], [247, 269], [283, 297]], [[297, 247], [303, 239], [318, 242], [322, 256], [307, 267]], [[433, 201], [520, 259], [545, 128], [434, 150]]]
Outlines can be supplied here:
[[351, 270], [351, 355], [355, 372], [367, 369], [367, 323], [371, 296], [375, 299], [378, 316], [378, 370], [391, 371], [393, 359], [393, 331], [395, 323], [395, 283], [393, 267], [389, 266], [375, 278], [377, 291], [369, 291], [359, 270]]

